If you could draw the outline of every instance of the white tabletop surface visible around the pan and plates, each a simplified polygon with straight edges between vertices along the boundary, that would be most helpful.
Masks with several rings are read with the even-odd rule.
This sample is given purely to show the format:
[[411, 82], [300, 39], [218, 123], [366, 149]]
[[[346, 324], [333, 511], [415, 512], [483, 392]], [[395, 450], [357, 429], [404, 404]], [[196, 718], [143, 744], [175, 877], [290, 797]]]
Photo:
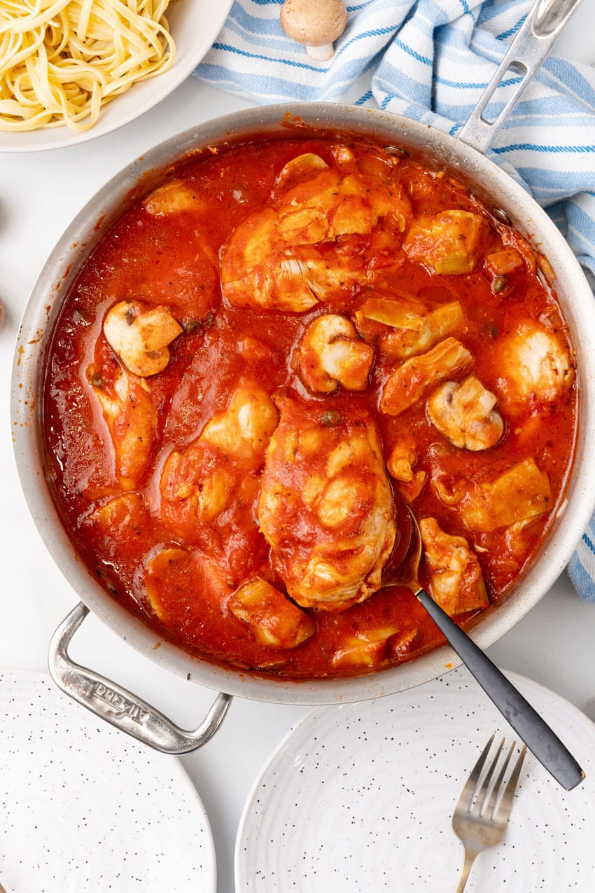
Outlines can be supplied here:
[[[557, 54], [595, 63], [594, 15], [595, 0], [585, 0]], [[107, 136], [49, 152], [0, 154], [0, 299], [6, 313], [0, 328], [0, 670], [45, 672], [51, 635], [77, 602], [45, 553], [14, 472], [9, 380], [29, 290], [62, 230], [120, 168], [180, 130], [247, 105], [191, 78], [138, 121]], [[92, 616], [77, 634], [71, 654], [188, 728], [200, 722], [211, 704], [211, 691], [136, 655]], [[565, 575], [516, 629], [490, 649], [490, 655], [500, 666], [541, 682], [595, 719], [595, 605], [583, 603]], [[237, 822], [252, 782], [269, 752], [308, 709], [236, 699], [215, 738], [183, 757], [211, 820], [218, 893], [234, 889]], [[583, 893], [595, 889], [592, 881]]]

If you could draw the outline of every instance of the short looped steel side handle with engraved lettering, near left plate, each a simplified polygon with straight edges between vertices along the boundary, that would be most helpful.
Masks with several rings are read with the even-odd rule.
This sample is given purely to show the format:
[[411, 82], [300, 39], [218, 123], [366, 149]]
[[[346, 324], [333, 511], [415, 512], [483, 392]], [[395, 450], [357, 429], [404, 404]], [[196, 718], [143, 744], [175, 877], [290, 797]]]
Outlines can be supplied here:
[[206, 744], [225, 719], [231, 704], [231, 695], [219, 692], [198, 729], [180, 729], [167, 716], [131, 694], [128, 689], [123, 689], [70, 659], [70, 639], [88, 613], [87, 606], [79, 602], [54, 632], [48, 663], [56, 685], [79, 704], [87, 707], [87, 710], [162, 754], [187, 754]]

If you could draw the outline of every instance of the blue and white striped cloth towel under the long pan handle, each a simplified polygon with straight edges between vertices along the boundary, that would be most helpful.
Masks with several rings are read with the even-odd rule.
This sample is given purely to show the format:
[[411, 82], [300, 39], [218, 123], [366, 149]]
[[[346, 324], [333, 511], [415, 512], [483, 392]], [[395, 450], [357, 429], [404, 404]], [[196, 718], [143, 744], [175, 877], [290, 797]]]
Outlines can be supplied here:
[[[361, 0], [335, 56], [314, 62], [279, 24], [283, 0], [236, 0], [196, 75], [260, 103], [347, 102], [388, 109], [456, 134], [533, 0]], [[495, 116], [519, 80], [503, 81]], [[516, 105], [492, 160], [547, 209], [595, 276], [595, 69], [550, 57]], [[570, 576], [595, 601], [595, 519]]]

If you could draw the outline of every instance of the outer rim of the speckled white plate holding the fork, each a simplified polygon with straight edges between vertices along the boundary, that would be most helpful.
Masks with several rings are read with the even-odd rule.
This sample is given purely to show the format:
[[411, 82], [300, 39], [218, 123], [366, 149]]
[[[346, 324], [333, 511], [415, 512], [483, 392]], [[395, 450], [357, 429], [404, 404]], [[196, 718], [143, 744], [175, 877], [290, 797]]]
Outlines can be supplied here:
[[[448, 677], [448, 681], [450, 684], [452, 684], [453, 682], [456, 682], [457, 685], [464, 686], [466, 684], [466, 680], [464, 678], [455, 680], [455, 674], [457, 672], [460, 673], [460, 672], [467, 672], [467, 671], [464, 666], [459, 666], [455, 671], [451, 671], [450, 673], [447, 673], [444, 677], [436, 677], [433, 680], [428, 680], [428, 681], [422, 683], [421, 685], [415, 687], [414, 689], [409, 689], [408, 691], [404, 692], [404, 695], [411, 695], [414, 691], [416, 691], [418, 693], [418, 695], [421, 697], [421, 696], [423, 696], [424, 689], [430, 689], [430, 688], [434, 687], [442, 679], [445, 679], [447, 677]], [[595, 751], [595, 723], [592, 722], [591, 719], [586, 714], [584, 714], [582, 710], [580, 710], [577, 706], [572, 704], [570, 701], [566, 700], [565, 697], [562, 697], [561, 695], [558, 695], [556, 692], [552, 691], [551, 689], [548, 689], [546, 686], [541, 685], [540, 682], [535, 682], [534, 680], [531, 680], [528, 677], [521, 675], [520, 673], [511, 672], [511, 671], [504, 670], [504, 669], [502, 669], [502, 672], [504, 672], [507, 675], [508, 679], [511, 682], [513, 682], [517, 687], [518, 686], [524, 686], [524, 687], [526, 686], [526, 688], [528, 690], [525, 691], [525, 697], [528, 697], [530, 699], [531, 698], [531, 689], [533, 689], [533, 691], [540, 693], [541, 697], [549, 699], [550, 702], [552, 702], [554, 705], [557, 705], [558, 708], [561, 708], [563, 711], [567, 711], [569, 714], [571, 714], [571, 716], [574, 717], [574, 720], [576, 722], [578, 722], [580, 725], [582, 725], [584, 728], [586, 728], [587, 730], [589, 730], [591, 732], [591, 737], [593, 739], [592, 743], [593, 743], [594, 751]], [[473, 680], [473, 677], [471, 675], [468, 676], [468, 680], [472, 685], [475, 684], [475, 680]], [[482, 697], [485, 697], [487, 700], [487, 695], [484, 696], [483, 692], [481, 692], [481, 689], [479, 689], [479, 687], [477, 688], [477, 693], [478, 693], [478, 698], [480, 700]], [[252, 818], [254, 816], [254, 802], [257, 798], [257, 795], [259, 794], [259, 791], [261, 789], [261, 786], [263, 785], [263, 782], [267, 778], [268, 773], [271, 770], [273, 770], [274, 764], [277, 761], [280, 762], [283, 759], [283, 752], [284, 752], [285, 748], [292, 742], [292, 740], [294, 738], [296, 738], [299, 735], [299, 733], [302, 730], [304, 730], [304, 727], [310, 725], [310, 723], [313, 721], [313, 719], [316, 716], [319, 717], [321, 714], [326, 715], [333, 711], [342, 710], [343, 708], [354, 709], [354, 708], [357, 708], [357, 706], [359, 704], [362, 705], [362, 707], [364, 709], [367, 709], [371, 705], [376, 703], [377, 701], [384, 701], [384, 699], [386, 699], [387, 701], [397, 702], [399, 697], [400, 697], [400, 693], [396, 693], [396, 694], [388, 695], [388, 696], [381, 697], [381, 698], [374, 698], [374, 699], [368, 700], [368, 701], [360, 701], [360, 702], [356, 702], [356, 703], [351, 702], [351, 704], [346, 703], [346, 704], [341, 704], [341, 705], [317, 705], [317, 706], [313, 707], [312, 710], [310, 710], [307, 714], [302, 716], [302, 718], [300, 720], [298, 720], [297, 722], [295, 722], [293, 724], [292, 728], [287, 732], [287, 734], [284, 736], [284, 738], [279, 741], [279, 743], [277, 744], [277, 747], [275, 747], [271, 751], [271, 753], [269, 754], [269, 757], [266, 759], [266, 761], [262, 765], [260, 772], [258, 773], [258, 776], [256, 777], [256, 779], [254, 780], [254, 782], [252, 784], [252, 788], [250, 789], [248, 797], [246, 797], [246, 800], [244, 802], [244, 808], [242, 810], [240, 822], [239, 822], [238, 828], [237, 828], [236, 847], [235, 847], [235, 854], [234, 854], [234, 872], [235, 872], [236, 893], [253, 893], [253, 890], [254, 890], [253, 884], [246, 875], [246, 861], [244, 858], [244, 844], [246, 843], [248, 835], [251, 833], [251, 822], [252, 822]], [[488, 705], [490, 704], [489, 700], [487, 700], [487, 704]], [[494, 707], [494, 709], [497, 709], [497, 708]], [[547, 719], [547, 717], [545, 717], [545, 718]], [[502, 720], [502, 725], [504, 727], [506, 727], [507, 723], [504, 720]], [[563, 732], [561, 730], [558, 730], [558, 731], [559, 731], [560, 735], [563, 734]], [[511, 737], [515, 737], [514, 732], [512, 730], [510, 730], [510, 732], [511, 732]], [[571, 747], [572, 742], [568, 741], [565, 743], [567, 743], [568, 746]], [[593, 810], [595, 812], [595, 803], [593, 803]], [[461, 852], [462, 852], [462, 850], [461, 850]], [[270, 893], [277, 893], [277, 890], [278, 890], [277, 887], [275, 887], [274, 889], [271, 888]], [[299, 891], [297, 891], [297, 893], [299, 893]]]

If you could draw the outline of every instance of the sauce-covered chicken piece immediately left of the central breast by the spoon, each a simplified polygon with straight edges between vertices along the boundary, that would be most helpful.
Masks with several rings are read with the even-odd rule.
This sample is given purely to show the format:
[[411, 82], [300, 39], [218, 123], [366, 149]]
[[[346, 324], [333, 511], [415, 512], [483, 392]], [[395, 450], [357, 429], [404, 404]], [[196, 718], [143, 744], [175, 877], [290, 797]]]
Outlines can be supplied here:
[[215, 536], [216, 547], [230, 555], [241, 553], [240, 541], [256, 538], [260, 467], [277, 418], [267, 391], [243, 380], [200, 437], [169, 455], [161, 496], [164, 517], [175, 530], [208, 550]]

